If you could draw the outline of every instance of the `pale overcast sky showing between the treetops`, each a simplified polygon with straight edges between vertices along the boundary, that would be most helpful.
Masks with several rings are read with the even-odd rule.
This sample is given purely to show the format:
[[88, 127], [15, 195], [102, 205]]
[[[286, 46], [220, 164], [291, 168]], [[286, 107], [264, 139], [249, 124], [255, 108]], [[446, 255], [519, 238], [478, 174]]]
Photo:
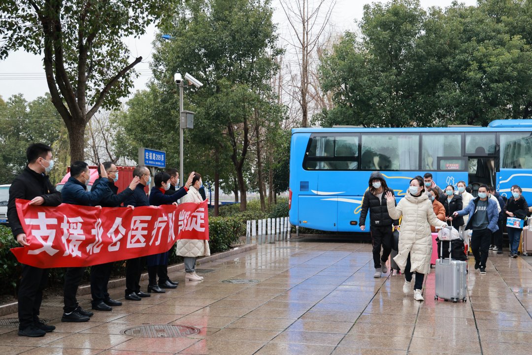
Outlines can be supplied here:
[[[373, 1], [385, 3], [386, 1]], [[451, 5], [452, 0], [421, 0], [421, 5], [425, 8], [430, 6], [446, 7]], [[467, 5], [475, 5], [476, 0], [461, 0]], [[355, 20], [360, 20], [363, 14], [364, 4], [371, 3], [365, 0], [337, 0], [335, 10], [331, 16], [335, 30], [343, 32], [345, 30], [355, 30]], [[278, 6], [278, 0], [273, 0], [276, 7], [273, 20], [279, 24], [281, 36], [288, 33], [285, 14]], [[146, 87], [146, 82], [151, 77], [149, 61], [151, 60], [151, 42], [155, 35], [155, 27], [148, 28], [145, 36], [135, 39], [127, 38], [125, 42], [129, 45], [132, 58], [142, 55], [143, 62], [136, 65], [141, 76], [135, 81], [135, 90], [142, 90]], [[22, 78], [26, 79], [22, 79]], [[14, 94], [21, 93], [27, 100], [34, 100], [48, 92], [42, 59], [39, 56], [31, 55], [23, 51], [10, 53], [6, 60], [0, 61], [0, 96], [6, 100]]]

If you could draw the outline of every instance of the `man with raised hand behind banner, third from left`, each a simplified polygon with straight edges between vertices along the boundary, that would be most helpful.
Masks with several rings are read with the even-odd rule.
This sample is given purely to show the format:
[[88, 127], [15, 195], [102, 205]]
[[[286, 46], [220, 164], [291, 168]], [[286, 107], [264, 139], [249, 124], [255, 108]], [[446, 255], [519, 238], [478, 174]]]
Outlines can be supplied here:
[[[107, 184], [109, 191], [105, 193], [98, 205], [101, 207], [119, 207], [126, 199], [133, 194], [133, 191], [138, 185], [139, 178], [134, 177], [129, 184], [129, 187], [118, 193], [118, 187], [114, 185], [118, 181], [118, 169], [115, 164], [110, 161], [102, 163], [107, 172], [107, 179], [98, 179], [93, 184], [93, 189], [99, 184]], [[98, 167], [98, 175], [102, 177], [101, 167]], [[90, 270], [90, 293], [93, 296], [92, 308], [97, 311], [111, 311], [112, 306], [121, 306], [122, 302], [113, 300], [107, 292], [107, 284], [111, 276], [113, 268], [112, 262], [104, 264], [93, 265]]]

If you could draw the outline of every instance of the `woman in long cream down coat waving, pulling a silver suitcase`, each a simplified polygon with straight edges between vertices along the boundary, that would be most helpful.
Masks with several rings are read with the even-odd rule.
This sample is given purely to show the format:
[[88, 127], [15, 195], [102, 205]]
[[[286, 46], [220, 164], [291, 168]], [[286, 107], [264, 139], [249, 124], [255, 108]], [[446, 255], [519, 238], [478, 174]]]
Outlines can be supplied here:
[[414, 300], [423, 301], [421, 289], [425, 274], [429, 273], [432, 253], [430, 226], [445, 227], [447, 224], [434, 214], [421, 178], [410, 180], [409, 190], [397, 207], [394, 205], [394, 200], [395, 197], [391, 193], [386, 194], [390, 217], [399, 219], [402, 216], [399, 251], [394, 260], [404, 272], [403, 292], [410, 292], [410, 282], [415, 273]]

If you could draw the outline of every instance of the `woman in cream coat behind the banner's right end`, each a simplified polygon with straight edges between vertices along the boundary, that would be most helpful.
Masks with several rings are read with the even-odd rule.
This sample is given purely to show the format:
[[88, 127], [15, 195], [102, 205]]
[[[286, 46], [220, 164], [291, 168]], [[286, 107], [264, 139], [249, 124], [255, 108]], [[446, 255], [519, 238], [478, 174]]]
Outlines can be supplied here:
[[[202, 185], [201, 175], [197, 172], [192, 178], [192, 185], [188, 189], [188, 193], [183, 197], [183, 203], [193, 202], [201, 203], [203, 202], [203, 197], [198, 192]], [[196, 240], [196, 239], [179, 239], [177, 241], [177, 255], [184, 257], [185, 263], [185, 280], [190, 281], [201, 281], [203, 280], [202, 276], [196, 274], [196, 258], [211, 255], [211, 250], [209, 249], [209, 241], [206, 240]]]

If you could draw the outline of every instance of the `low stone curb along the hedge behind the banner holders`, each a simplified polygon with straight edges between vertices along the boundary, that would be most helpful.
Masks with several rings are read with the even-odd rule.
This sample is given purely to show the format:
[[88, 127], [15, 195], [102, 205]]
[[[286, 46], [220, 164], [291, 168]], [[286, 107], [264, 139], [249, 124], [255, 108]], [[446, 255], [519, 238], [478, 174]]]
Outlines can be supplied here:
[[[224, 252], [221, 252], [221, 253], [210, 255], [209, 257], [198, 258], [197, 262], [198, 262], [198, 265], [199, 265], [200, 263], [203, 264], [203, 263], [206, 263], [206, 262], [212, 262], [212, 261], [215, 261], [215, 260], [218, 260], [218, 259], [231, 257], [232, 255], [245, 253], [247, 251], [251, 251], [251, 250], [255, 250], [255, 249], [257, 249], [257, 244], [248, 244], [248, 245], [243, 245], [243, 246], [237, 246], [237, 247], [235, 247], [233, 249], [230, 249], [228, 251], [224, 251]], [[175, 273], [177, 271], [181, 271], [181, 270], [184, 270], [184, 269], [185, 269], [185, 264], [184, 263], [175, 264], [175, 265], [172, 265], [172, 266], [168, 267], [168, 273], [169, 274], [170, 273]], [[147, 277], [148, 277], [148, 273], [143, 273], [140, 276], [140, 279], [141, 280], [145, 280]], [[115, 288], [115, 287], [124, 286], [124, 285], [126, 285], [126, 278], [125, 277], [114, 279], [114, 280], [109, 280], [109, 284], [107, 284], [107, 288]], [[77, 295], [78, 296], [90, 295], [90, 285], [79, 286]], [[18, 302], [12, 302], [12, 303], [7, 303], [7, 304], [4, 304], [4, 305], [0, 306], [0, 316], [6, 316], [6, 315], [9, 315], [11, 313], [16, 313], [18, 311], [18, 304], [19, 304]]]

